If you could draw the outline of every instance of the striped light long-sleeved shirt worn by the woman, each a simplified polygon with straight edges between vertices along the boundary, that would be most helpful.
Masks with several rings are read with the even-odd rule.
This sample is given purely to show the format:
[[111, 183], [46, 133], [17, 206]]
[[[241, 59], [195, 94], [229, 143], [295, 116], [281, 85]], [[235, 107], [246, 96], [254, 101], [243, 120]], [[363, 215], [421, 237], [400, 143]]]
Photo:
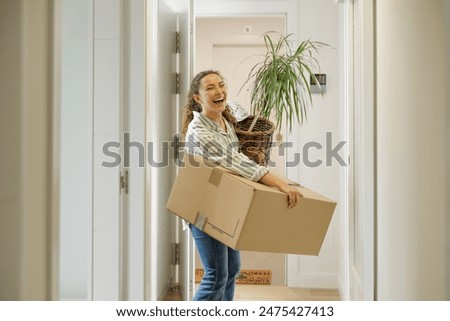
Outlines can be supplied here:
[[186, 153], [203, 156], [253, 181], [259, 181], [267, 174], [267, 167], [258, 165], [239, 151], [239, 141], [234, 128], [226, 119], [225, 132], [208, 117], [196, 111], [193, 113], [194, 118], [186, 133]]

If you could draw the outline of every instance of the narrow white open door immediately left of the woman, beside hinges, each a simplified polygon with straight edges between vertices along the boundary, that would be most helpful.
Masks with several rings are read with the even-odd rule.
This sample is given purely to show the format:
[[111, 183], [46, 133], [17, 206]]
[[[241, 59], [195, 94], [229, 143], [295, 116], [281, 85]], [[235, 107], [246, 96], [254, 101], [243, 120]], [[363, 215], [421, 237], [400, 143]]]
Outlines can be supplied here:
[[174, 216], [166, 209], [175, 164], [170, 143], [177, 132], [175, 34], [172, 1], [147, 1], [146, 299], [161, 300], [173, 282]]

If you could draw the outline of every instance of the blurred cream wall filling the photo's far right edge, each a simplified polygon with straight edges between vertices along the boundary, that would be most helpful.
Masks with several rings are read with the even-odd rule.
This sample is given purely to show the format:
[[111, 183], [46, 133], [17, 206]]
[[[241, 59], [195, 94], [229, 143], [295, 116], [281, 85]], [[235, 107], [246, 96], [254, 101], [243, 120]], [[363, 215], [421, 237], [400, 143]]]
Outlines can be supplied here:
[[448, 299], [443, 3], [377, 1], [379, 300]]

